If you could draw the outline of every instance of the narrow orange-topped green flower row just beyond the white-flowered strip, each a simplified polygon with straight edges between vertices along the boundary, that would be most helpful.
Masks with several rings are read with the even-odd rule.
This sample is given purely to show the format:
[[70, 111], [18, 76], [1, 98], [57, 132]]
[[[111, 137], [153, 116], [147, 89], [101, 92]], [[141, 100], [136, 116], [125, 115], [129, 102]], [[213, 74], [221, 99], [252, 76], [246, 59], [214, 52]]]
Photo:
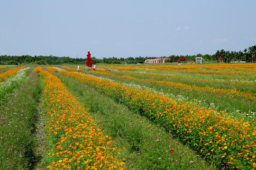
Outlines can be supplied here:
[[113, 79], [119, 78], [123, 80], [132, 80], [140, 84], [154, 86], [161, 90], [163, 89], [167, 93], [187, 96], [191, 101], [197, 99], [201, 100], [203, 98], [204, 100], [209, 101], [209, 103], [218, 104], [221, 110], [228, 110], [229, 112], [232, 112], [233, 110], [240, 110], [240, 112], [248, 112], [250, 110], [256, 112], [255, 93], [240, 92], [239, 90], [233, 89], [213, 88], [208, 85], [187, 85], [184, 83], [175, 83], [154, 78], [139, 78], [128, 75], [119, 76], [110, 72], [96, 71], [90, 74], [113, 77]]

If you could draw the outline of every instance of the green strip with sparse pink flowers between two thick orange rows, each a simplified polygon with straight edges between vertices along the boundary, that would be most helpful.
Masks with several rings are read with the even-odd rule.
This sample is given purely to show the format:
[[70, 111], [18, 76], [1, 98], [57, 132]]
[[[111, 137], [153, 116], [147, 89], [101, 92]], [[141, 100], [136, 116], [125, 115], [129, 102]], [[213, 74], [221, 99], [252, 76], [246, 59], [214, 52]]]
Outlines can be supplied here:
[[128, 110], [78, 80], [55, 75], [86, 108], [90, 108], [88, 111], [105, 133], [117, 141], [117, 146], [123, 150], [120, 156], [124, 158], [127, 170], [216, 170], [197, 152], [174, 139], [172, 132], [152, 124], [137, 111]]

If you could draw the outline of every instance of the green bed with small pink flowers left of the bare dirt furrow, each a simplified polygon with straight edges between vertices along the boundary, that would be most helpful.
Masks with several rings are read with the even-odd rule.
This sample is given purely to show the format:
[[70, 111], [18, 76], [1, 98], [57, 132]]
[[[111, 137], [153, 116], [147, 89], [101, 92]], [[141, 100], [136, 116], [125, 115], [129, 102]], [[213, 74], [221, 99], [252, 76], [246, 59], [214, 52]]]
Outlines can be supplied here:
[[27, 80], [1, 105], [0, 170], [29, 169], [33, 161], [31, 129], [40, 89], [37, 74], [30, 70]]

